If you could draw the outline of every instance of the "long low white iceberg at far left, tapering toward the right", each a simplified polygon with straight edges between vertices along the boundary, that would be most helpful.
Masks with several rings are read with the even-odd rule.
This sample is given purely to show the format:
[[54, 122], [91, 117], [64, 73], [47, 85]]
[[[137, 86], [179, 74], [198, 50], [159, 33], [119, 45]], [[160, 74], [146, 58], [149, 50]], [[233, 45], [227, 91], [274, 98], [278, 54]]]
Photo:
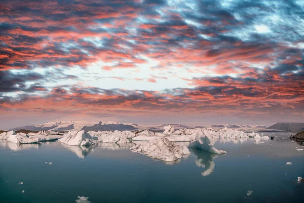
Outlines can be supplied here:
[[53, 140], [58, 140], [60, 138], [62, 138], [62, 136], [40, 135], [40, 134], [36, 134], [35, 136], [29, 137], [27, 134], [20, 132], [17, 134], [11, 134], [11, 136], [7, 139], [7, 141], [15, 144], [29, 144], [29, 143], [53, 141]]

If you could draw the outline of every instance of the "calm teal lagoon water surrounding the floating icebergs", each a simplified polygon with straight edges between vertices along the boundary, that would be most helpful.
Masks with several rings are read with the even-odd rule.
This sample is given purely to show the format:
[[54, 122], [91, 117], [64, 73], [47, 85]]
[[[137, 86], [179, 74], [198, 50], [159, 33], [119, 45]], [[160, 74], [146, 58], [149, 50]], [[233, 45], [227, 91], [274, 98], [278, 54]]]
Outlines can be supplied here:
[[[191, 155], [175, 163], [116, 144], [80, 148], [2, 142], [0, 202], [75, 202], [78, 196], [93, 203], [303, 202], [304, 183], [296, 179], [304, 177], [304, 150], [296, 150], [302, 147], [287, 139], [290, 134], [264, 135], [280, 139], [264, 144], [218, 140], [215, 147], [226, 155], [191, 149]], [[287, 161], [292, 164], [285, 165]]]

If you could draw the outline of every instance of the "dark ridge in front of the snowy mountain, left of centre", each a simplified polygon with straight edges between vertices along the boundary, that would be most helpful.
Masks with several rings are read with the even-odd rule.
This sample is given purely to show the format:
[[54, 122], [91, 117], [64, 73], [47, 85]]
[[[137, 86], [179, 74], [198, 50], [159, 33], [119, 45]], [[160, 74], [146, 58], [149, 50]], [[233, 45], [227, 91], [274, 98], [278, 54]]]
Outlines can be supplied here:
[[98, 131], [98, 130], [135, 130], [136, 127], [132, 125], [124, 125], [124, 124], [105, 124], [101, 125], [101, 122], [95, 124], [93, 126], [84, 126], [81, 130], [85, 131]]

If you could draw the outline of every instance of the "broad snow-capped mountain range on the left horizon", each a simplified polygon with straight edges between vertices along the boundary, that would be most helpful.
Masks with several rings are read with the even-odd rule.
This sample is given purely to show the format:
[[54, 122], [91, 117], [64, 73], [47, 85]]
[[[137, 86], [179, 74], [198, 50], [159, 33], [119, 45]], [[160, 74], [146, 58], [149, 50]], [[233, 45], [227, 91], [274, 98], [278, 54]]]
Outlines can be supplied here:
[[122, 123], [118, 121], [56, 121], [48, 122], [39, 125], [27, 125], [15, 127], [10, 130], [26, 129], [32, 131], [40, 130], [52, 130], [52, 131], [64, 131], [64, 130], [134, 130], [139, 126], [135, 123]]

